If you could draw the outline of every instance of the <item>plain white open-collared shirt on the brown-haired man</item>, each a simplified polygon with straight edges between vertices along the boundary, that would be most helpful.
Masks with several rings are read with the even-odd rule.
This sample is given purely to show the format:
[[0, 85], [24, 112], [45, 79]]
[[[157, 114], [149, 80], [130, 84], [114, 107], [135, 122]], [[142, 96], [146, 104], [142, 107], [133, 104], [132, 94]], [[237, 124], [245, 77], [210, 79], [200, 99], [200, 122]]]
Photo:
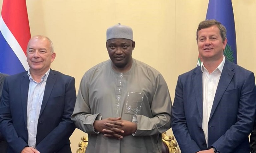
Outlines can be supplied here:
[[223, 58], [220, 65], [211, 74], [204, 67], [202, 62], [201, 70], [203, 72], [203, 123], [202, 128], [205, 134], [205, 140], [208, 145], [208, 121], [210, 118], [214, 96], [220, 80], [220, 76], [225, 63], [225, 57]]

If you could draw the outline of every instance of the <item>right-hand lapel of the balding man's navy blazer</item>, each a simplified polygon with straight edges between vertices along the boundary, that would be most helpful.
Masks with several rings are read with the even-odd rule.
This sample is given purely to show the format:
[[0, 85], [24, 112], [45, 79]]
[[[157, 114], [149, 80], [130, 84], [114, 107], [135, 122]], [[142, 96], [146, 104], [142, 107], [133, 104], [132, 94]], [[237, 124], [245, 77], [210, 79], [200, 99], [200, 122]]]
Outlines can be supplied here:
[[45, 106], [48, 102], [48, 99], [49, 99], [50, 94], [52, 92], [52, 88], [54, 86], [55, 81], [56, 81], [55, 73], [52, 70], [50, 70], [49, 76], [48, 76], [46, 84], [45, 84], [44, 96], [43, 96], [43, 101], [42, 101], [39, 117], [41, 116], [41, 114], [42, 114], [42, 112], [43, 112], [43, 110], [44, 110], [44, 108], [45, 108]]

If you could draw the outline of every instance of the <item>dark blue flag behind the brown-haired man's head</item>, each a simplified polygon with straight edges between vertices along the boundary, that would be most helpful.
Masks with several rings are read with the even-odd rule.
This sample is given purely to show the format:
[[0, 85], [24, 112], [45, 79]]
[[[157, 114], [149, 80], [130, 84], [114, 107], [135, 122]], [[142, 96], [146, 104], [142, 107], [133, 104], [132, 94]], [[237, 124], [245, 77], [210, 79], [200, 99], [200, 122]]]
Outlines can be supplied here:
[[[227, 60], [237, 64], [236, 54], [236, 30], [234, 13], [231, 0], [209, 0], [206, 20], [216, 19], [227, 29], [228, 44], [224, 50]], [[201, 57], [198, 57], [197, 66], [201, 65]]]

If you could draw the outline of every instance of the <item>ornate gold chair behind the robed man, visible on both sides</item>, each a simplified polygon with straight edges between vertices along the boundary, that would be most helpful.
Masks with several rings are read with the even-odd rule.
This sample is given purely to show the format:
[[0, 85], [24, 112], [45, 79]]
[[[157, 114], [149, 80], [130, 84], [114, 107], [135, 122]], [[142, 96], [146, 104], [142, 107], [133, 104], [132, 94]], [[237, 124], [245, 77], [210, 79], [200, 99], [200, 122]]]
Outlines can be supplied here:
[[[167, 135], [166, 132], [162, 133], [163, 140], [163, 153], [180, 153], [177, 147], [177, 142], [174, 140], [174, 136]], [[88, 137], [81, 137], [81, 141], [78, 144], [78, 149], [76, 153], [85, 153], [86, 147], [88, 145]]]

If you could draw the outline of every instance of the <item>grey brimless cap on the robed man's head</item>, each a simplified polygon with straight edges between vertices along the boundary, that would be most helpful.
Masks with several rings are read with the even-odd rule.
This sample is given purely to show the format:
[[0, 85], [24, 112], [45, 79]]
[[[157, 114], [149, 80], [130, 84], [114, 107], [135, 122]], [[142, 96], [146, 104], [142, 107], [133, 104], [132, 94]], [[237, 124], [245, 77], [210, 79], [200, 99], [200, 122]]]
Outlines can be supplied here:
[[107, 40], [114, 38], [124, 38], [133, 41], [133, 29], [118, 23], [107, 29]]

